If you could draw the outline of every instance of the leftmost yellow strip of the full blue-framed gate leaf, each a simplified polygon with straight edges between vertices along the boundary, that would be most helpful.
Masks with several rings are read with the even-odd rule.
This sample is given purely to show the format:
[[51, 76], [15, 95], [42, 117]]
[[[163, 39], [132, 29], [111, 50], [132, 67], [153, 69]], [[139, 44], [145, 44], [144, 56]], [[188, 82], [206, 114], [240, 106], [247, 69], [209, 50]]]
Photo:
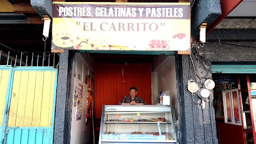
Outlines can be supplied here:
[[21, 71], [14, 71], [8, 126], [15, 126]]

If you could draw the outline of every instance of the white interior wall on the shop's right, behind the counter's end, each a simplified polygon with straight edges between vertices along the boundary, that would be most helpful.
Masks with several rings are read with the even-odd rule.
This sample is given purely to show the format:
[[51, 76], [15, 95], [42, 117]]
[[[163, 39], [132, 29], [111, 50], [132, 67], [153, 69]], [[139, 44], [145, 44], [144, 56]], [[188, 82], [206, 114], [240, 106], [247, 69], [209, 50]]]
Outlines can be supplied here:
[[[151, 72], [151, 87], [152, 98], [154, 102], [158, 103], [157, 96], [160, 91], [169, 91], [170, 103], [173, 104], [175, 110], [175, 117], [177, 118], [177, 86], [176, 86], [176, 70], [175, 70], [175, 56], [163, 55], [154, 59], [153, 70]], [[157, 74], [155, 74], [157, 73]], [[157, 83], [156, 83], [157, 82]], [[157, 86], [157, 92], [155, 87]], [[156, 101], [157, 100], [157, 101]]]

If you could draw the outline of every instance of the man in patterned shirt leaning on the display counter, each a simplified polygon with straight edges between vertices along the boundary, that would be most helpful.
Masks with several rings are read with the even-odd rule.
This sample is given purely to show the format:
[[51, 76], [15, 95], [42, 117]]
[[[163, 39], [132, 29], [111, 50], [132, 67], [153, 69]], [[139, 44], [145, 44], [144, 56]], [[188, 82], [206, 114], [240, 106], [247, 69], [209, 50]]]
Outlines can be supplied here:
[[123, 96], [121, 101], [119, 101], [119, 105], [143, 105], [146, 104], [146, 102], [140, 97], [136, 96], [137, 94], [137, 88], [136, 87], [130, 87], [129, 91], [130, 95]]

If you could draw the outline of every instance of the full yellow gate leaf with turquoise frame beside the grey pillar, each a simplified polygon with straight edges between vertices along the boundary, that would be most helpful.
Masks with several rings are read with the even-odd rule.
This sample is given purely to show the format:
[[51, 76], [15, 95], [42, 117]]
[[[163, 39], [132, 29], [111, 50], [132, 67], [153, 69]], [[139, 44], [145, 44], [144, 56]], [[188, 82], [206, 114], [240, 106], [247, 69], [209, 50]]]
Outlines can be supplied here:
[[4, 144], [53, 143], [57, 69], [15, 67], [9, 76], [5, 102], [8, 110], [0, 129], [1, 141]]

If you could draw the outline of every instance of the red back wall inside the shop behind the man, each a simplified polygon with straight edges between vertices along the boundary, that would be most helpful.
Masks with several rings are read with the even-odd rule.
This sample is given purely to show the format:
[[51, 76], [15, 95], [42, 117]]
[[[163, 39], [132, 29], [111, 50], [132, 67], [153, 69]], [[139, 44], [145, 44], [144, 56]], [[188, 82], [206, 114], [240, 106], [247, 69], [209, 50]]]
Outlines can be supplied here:
[[151, 104], [150, 63], [94, 63], [95, 118], [101, 117], [102, 104], [115, 105], [129, 88], [135, 86], [137, 95]]

